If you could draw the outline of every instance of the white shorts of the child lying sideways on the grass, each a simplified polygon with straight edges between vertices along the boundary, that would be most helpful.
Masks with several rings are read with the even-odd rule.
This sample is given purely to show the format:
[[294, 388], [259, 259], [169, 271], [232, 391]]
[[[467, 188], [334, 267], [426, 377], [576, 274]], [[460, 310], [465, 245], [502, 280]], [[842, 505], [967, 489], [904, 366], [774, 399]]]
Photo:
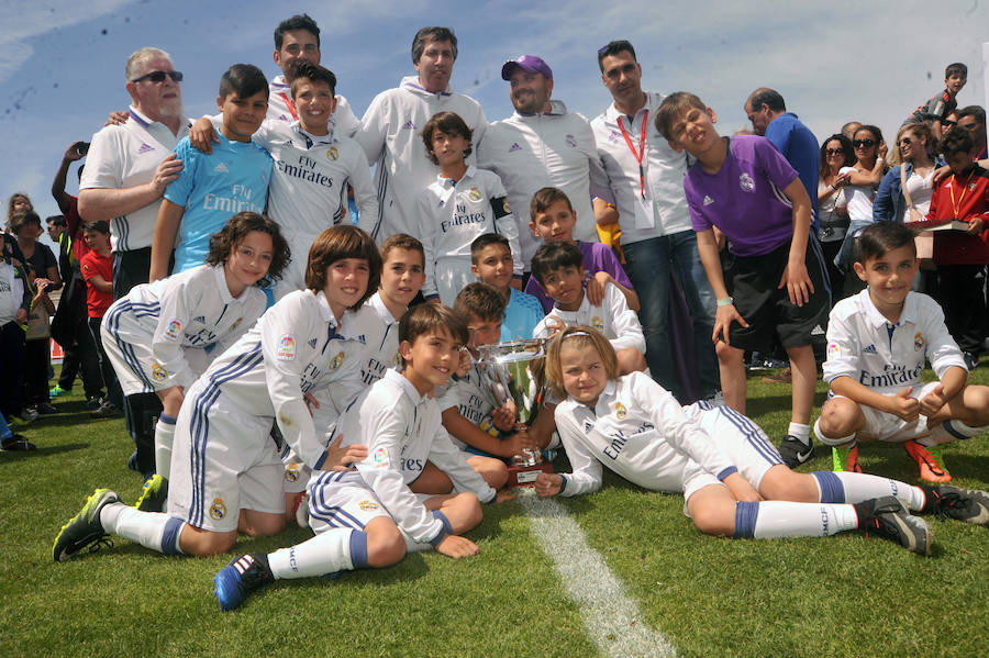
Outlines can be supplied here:
[[[766, 433], [751, 419], [727, 406], [715, 406], [707, 402], [696, 402], [687, 410], [698, 424], [726, 454], [738, 473], [757, 490], [763, 477], [777, 464], [782, 464], [776, 447], [769, 442]], [[684, 468], [684, 513], [687, 514], [687, 501], [703, 487], [724, 483], [703, 469], [692, 459]], [[689, 514], [688, 514], [689, 516]]]

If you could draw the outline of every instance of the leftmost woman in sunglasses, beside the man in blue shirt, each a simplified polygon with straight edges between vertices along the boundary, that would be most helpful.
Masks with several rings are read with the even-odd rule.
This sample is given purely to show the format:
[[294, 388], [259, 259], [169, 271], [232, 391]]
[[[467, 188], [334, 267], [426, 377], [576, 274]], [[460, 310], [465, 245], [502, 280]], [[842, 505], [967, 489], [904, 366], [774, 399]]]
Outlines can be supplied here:
[[848, 231], [848, 205], [845, 202], [844, 187], [848, 183], [848, 174], [842, 174], [843, 167], [855, 164], [852, 154], [852, 140], [842, 134], [834, 134], [821, 145], [820, 176], [818, 177], [818, 212], [821, 227], [818, 236], [821, 250], [827, 266], [827, 278], [831, 281], [831, 305], [842, 299], [841, 290], [845, 275], [834, 264], [845, 233]]

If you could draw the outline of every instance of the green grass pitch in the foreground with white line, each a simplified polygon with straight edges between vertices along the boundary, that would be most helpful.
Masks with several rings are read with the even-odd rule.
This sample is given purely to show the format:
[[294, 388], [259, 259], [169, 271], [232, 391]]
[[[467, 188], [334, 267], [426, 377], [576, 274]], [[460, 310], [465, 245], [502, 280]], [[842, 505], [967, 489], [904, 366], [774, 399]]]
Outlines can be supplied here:
[[[989, 364], [971, 381], [989, 383]], [[81, 387], [80, 387], [81, 388]], [[819, 409], [823, 384], [819, 386]], [[540, 548], [525, 501], [485, 509], [468, 536], [480, 555], [416, 554], [336, 580], [278, 582], [222, 613], [212, 577], [230, 556], [163, 557], [116, 539], [112, 549], [53, 564], [59, 526], [96, 487], [132, 502], [123, 421], [90, 421], [78, 398], [15, 430], [38, 446], [0, 454], [2, 656], [625, 656], [658, 655], [633, 629], [680, 656], [971, 656], [989, 644], [989, 531], [929, 520], [934, 555], [921, 558], [854, 534], [825, 539], [730, 540], [703, 536], [682, 497], [615, 477], [599, 493], [560, 500], [637, 606], [603, 634]], [[789, 387], [749, 378], [749, 415], [778, 440]], [[945, 448], [955, 483], [989, 489], [989, 436]], [[914, 481], [899, 445], [862, 451], [869, 472]], [[826, 469], [830, 453], [801, 470]], [[566, 468], [560, 459], [557, 469]], [[530, 512], [532, 513], [532, 512]], [[293, 528], [241, 539], [267, 551], [310, 536]], [[566, 562], [568, 555], [557, 555]], [[596, 573], [587, 575], [592, 581]], [[593, 589], [593, 588], [591, 588]], [[619, 607], [605, 592], [594, 610]], [[578, 600], [582, 600], [582, 593]], [[607, 615], [598, 621], [610, 618]], [[620, 617], [616, 617], [620, 618]], [[600, 631], [600, 624], [598, 624]]]

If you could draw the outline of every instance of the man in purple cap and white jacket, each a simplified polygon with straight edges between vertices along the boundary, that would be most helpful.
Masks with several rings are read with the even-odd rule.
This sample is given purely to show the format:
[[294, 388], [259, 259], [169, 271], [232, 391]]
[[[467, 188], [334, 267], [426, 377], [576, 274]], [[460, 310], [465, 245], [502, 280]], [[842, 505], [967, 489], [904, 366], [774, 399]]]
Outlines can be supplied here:
[[553, 71], [545, 62], [535, 55], [522, 55], [504, 63], [501, 79], [511, 85], [509, 97], [515, 112], [491, 124], [477, 159], [504, 183], [519, 222], [523, 268], [530, 271], [540, 246], [529, 230], [532, 196], [544, 187], [563, 190], [577, 213], [574, 237], [597, 242], [591, 186], [602, 185], [604, 172], [587, 119], [567, 112], [563, 101], [549, 99]]

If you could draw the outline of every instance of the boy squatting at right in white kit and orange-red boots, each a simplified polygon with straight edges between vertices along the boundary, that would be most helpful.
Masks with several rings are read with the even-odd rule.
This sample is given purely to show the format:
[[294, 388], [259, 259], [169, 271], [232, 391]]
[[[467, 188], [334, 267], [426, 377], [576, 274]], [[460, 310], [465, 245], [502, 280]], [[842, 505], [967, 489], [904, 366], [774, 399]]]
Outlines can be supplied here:
[[[833, 448], [834, 470], [862, 472], [860, 440], [905, 442], [922, 480], [949, 482], [940, 446], [989, 428], [989, 388], [966, 386], [968, 369], [944, 314], [910, 290], [918, 267], [913, 232], [903, 224], [878, 222], [859, 235], [855, 272], [868, 288], [831, 312], [831, 392], [814, 425]], [[938, 381], [922, 383], [927, 358]]]

